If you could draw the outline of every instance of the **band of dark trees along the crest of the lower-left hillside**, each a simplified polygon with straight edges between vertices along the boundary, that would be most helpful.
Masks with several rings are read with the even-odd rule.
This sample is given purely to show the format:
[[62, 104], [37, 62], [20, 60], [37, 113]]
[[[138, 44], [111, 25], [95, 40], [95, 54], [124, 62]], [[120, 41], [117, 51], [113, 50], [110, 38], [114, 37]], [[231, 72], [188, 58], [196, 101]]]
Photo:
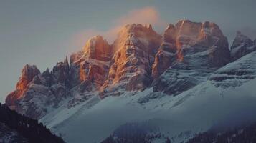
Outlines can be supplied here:
[[31, 143], [64, 143], [35, 119], [29, 119], [0, 103], [0, 122], [22, 135]]

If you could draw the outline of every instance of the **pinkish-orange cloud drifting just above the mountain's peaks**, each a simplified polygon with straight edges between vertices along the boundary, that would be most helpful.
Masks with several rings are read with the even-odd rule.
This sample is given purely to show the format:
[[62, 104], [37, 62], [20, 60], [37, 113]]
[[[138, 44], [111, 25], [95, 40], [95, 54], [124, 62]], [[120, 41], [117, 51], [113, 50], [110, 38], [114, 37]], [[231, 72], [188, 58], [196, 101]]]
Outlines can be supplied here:
[[118, 31], [126, 24], [152, 24], [156, 29], [163, 29], [167, 25], [163, 19], [161, 19], [159, 12], [154, 7], [144, 7], [142, 9], [133, 9], [118, 19], [113, 20], [113, 27], [110, 29], [101, 31], [98, 29], [85, 29], [75, 36], [76, 45], [85, 44], [87, 39], [95, 35], [101, 35], [112, 43], [116, 38]]

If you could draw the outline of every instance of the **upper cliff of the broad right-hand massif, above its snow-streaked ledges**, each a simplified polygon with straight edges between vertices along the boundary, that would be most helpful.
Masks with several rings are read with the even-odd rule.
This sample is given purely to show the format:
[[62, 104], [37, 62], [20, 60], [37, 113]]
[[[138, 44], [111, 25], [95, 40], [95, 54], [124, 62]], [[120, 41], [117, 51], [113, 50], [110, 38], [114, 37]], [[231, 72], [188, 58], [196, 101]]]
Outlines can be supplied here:
[[170, 24], [153, 64], [153, 77], [158, 77], [174, 62], [187, 64], [191, 69], [220, 67], [229, 62], [227, 38], [217, 24], [189, 20]]

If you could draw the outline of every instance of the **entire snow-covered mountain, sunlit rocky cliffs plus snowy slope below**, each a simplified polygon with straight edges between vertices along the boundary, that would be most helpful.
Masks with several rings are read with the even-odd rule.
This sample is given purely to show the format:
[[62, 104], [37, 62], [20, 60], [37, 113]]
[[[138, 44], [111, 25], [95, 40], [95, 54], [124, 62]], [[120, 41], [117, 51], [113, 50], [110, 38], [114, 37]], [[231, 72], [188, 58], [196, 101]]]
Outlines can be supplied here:
[[208, 21], [181, 20], [163, 36], [129, 24], [113, 44], [94, 36], [52, 71], [26, 65], [6, 104], [66, 142], [122, 137], [125, 124], [138, 124], [151, 142], [186, 141], [213, 126], [255, 120], [255, 47], [237, 32], [229, 50]]

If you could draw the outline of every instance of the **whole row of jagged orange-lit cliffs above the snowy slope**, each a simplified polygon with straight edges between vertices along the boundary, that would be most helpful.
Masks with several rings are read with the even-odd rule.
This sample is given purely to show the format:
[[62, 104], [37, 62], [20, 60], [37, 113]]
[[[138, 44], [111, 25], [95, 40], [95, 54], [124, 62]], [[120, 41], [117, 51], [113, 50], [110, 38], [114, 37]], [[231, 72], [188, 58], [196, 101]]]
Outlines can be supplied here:
[[93, 36], [71, 54], [70, 62], [66, 57], [52, 71], [40, 73], [35, 66], [25, 66], [6, 104], [39, 119], [52, 109], [74, 107], [91, 97], [103, 99], [151, 86], [154, 92], [176, 95], [229, 61], [227, 38], [217, 24], [181, 20], [169, 24], [163, 36], [151, 25], [129, 24], [113, 44]]

